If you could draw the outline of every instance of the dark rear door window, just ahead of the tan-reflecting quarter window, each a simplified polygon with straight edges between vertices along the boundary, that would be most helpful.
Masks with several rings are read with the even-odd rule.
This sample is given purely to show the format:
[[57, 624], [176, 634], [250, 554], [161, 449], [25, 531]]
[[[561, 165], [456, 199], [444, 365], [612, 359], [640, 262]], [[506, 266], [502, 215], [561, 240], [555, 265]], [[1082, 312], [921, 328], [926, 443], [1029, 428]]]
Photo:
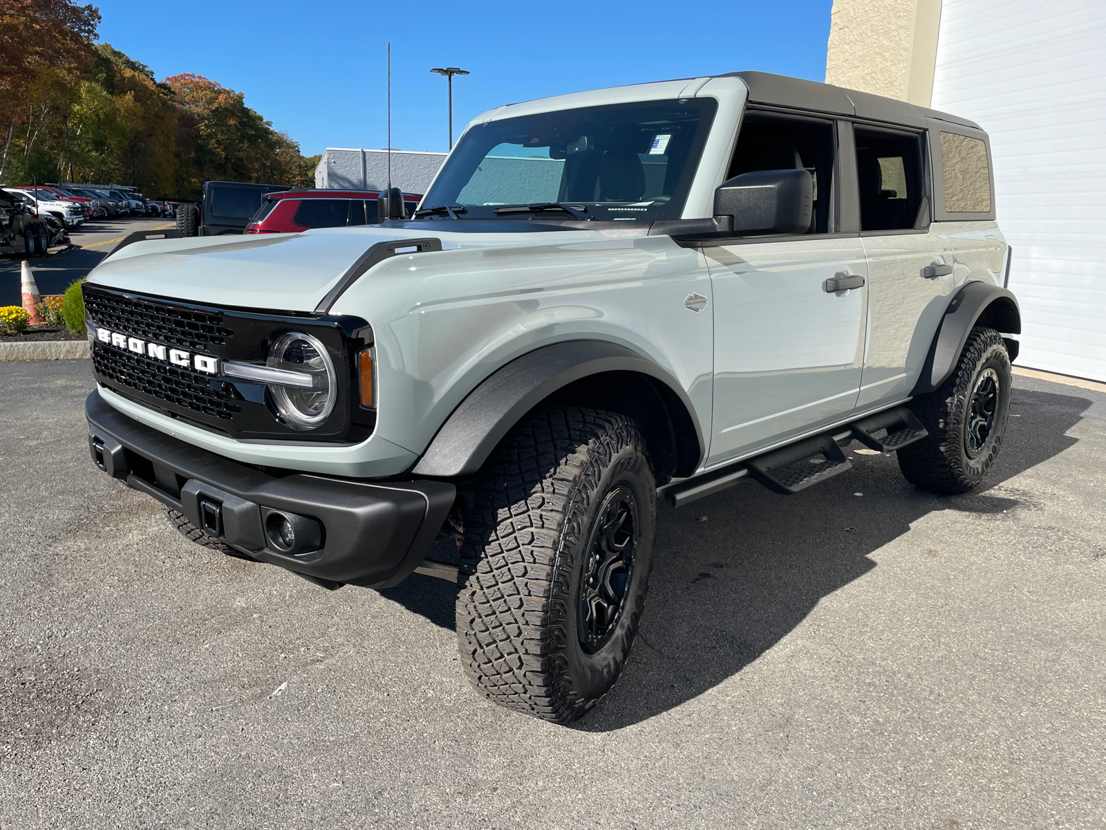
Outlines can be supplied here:
[[925, 227], [921, 137], [881, 129], [856, 129], [860, 230]]

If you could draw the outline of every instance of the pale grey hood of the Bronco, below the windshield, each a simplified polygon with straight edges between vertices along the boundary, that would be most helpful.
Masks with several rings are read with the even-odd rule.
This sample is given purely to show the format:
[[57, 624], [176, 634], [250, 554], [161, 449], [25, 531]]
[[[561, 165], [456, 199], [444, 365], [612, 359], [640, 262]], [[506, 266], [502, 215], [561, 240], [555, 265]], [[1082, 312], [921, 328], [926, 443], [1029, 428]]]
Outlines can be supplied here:
[[[88, 281], [221, 308], [312, 312], [357, 258], [377, 242], [432, 237], [441, 240], [442, 251], [448, 251], [544, 245], [551, 236], [565, 242], [604, 238], [594, 230], [552, 228], [539, 232], [441, 230], [451, 224], [428, 221], [421, 227], [420, 222], [417, 229], [365, 226], [317, 228], [302, 234], [148, 240], [107, 257], [88, 274]], [[510, 227], [514, 230], [519, 226], [512, 222]], [[361, 280], [372, 276], [369, 269]]]

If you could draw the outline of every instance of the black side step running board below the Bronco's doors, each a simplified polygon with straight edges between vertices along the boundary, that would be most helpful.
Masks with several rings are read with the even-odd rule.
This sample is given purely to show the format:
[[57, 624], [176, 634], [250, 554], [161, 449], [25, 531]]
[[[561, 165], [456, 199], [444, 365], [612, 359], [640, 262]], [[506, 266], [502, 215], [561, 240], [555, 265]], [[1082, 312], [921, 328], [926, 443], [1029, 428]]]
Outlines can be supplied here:
[[[881, 438], [874, 437], [880, 429], [886, 429], [887, 434]], [[854, 438], [880, 453], [890, 453], [921, 440], [927, 435], [929, 433], [910, 409], [896, 406], [833, 432], [804, 438], [671, 485], [665, 488], [664, 495], [672, 507], [682, 507], [742, 481], [755, 480], [773, 492], [792, 496], [852, 469], [853, 464], [845, 457], [842, 446]]]

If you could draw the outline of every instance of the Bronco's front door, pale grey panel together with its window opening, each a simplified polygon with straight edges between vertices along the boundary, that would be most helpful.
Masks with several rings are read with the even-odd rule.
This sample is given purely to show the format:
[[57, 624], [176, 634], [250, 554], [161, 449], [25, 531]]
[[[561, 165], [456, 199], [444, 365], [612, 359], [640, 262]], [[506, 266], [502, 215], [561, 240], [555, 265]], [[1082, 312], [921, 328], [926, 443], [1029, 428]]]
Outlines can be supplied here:
[[708, 465], [839, 421], [860, 386], [867, 288], [856, 234], [837, 232], [830, 120], [747, 113], [727, 178], [758, 169], [811, 172], [806, 234], [707, 246], [714, 314], [714, 418]]

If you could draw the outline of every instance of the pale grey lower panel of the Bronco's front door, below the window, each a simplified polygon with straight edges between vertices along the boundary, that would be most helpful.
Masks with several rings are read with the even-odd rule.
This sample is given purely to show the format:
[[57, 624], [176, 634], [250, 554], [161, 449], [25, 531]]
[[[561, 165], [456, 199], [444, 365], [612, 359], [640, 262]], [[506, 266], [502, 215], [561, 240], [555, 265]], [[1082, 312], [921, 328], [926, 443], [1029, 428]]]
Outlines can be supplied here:
[[707, 247], [714, 307], [708, 466], [842, 419], [856, 405], [867, 287], [857, 238]]

